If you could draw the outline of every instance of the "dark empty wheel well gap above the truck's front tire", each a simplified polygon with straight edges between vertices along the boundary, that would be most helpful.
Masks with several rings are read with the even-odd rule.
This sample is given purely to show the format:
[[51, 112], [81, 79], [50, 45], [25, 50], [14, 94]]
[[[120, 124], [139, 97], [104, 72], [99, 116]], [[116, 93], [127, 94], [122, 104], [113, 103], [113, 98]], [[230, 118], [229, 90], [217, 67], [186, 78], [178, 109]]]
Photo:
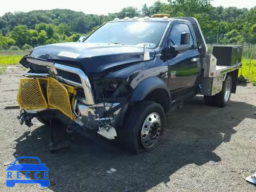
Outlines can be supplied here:
[[154, 101], [159, 103], [163, 108], [164, 112], [167, 113], [170, 109], [169, 95], [165, 89], [155, 89], [150, 92], [144, 100]]

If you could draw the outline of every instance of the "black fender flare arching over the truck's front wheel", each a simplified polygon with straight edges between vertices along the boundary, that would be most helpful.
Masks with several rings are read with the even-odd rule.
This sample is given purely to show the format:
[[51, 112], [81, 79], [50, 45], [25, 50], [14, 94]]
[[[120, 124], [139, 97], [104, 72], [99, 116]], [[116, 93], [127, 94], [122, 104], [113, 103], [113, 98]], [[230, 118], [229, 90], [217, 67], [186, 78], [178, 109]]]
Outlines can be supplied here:
[[156, 89], [166, 90], [168, 94], [168, 99], [171, 102], [171, 94], [168, 86], [157, 76], [146, 78], [145, 80], [140, 82], [138, 86], [134, 89], [130, 98], [130, 102], [142, 101], [150, 92]]

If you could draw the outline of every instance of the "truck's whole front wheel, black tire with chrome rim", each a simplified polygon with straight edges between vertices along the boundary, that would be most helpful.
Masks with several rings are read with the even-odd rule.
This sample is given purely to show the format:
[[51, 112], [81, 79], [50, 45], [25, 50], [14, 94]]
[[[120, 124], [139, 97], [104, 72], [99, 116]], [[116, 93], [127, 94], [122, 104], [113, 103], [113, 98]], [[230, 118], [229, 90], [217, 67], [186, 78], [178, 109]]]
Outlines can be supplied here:
[[160, 104], [152, 101], [135, 103], [120, 131], [121, 141], [135, 154], [152, 150], [164, 132], [164, 120], [165, 113]]

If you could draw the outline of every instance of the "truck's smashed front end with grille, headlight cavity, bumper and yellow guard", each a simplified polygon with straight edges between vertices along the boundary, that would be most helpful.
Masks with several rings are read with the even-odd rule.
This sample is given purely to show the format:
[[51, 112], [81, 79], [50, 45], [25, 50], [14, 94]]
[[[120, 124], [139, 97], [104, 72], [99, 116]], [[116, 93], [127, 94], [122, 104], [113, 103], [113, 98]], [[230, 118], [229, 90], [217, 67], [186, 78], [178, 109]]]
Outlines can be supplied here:
[[[117, 136], [132, 90], [125, 81], [92, 78], [91, 84], [80, 68], [28, 56], [21, 63], [31, 69], [24, 74], [27, 78], [20, 79], [18, 90], [22, 123], [32, 126], [34, 117], [58, 119], [68, 133], [94, 130], [108, 139]], [[36, 68], [44, 68], [44, 73]]]

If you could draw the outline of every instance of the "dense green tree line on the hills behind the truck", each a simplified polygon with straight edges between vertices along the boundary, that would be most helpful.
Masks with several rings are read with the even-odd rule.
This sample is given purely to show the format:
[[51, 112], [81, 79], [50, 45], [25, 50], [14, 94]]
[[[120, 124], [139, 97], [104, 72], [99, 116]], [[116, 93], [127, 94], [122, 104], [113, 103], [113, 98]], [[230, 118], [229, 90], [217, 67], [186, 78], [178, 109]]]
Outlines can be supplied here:
[[0, 17], [0, 49], [17, 49], [17, 46], [29, 49], [38, 44], [74, 42], [114, 18], [156, 13], [197, 18], [208, 43], [256, 44], [256, 6], [248, 10], [213, 7], [211, 0], [168, 0], [166, 3], [156, 1], [152, 6], [144, 4], [141, 10], [125, 7], [107, 16], [66, 9], [7, 12]]

